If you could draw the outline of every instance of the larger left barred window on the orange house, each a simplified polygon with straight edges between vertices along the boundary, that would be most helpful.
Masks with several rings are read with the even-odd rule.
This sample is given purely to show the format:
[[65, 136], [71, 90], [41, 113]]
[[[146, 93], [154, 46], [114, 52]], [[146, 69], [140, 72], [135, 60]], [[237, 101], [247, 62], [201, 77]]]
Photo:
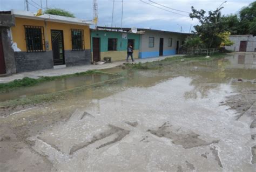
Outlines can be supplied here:
[[25, 25], [26, 52], [44, 52], [44, 27]]

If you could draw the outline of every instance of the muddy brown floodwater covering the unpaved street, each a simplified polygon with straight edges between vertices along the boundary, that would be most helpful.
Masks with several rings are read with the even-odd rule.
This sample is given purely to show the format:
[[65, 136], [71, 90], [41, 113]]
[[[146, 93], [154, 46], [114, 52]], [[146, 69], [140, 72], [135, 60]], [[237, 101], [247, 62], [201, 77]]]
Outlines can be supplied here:
[[[256, 54], [104, 72], [124, 78], [0, 115], [0, 171], [256, 171]], [[46, 82], [0, 99], [108, 79]]]

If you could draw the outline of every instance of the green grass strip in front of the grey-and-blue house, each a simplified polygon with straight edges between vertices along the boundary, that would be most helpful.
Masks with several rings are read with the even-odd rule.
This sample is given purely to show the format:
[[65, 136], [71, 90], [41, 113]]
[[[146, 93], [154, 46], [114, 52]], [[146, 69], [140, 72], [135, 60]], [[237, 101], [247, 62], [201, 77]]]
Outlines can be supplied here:
[[147, 63], [138, 64], [126, 64], [124, 68], [136, 69], [136, 70], [157, 70], [164, 66], [180, 64], [186, 61], [212, 61], [214, 59], [224, 58], [227, 56], [226, 53], [214, 53], [211, 57], [206, 58], [206, 55], [186, 55], [186, 56], [174, 56], [167, 57], [163, 60], [152, 61]]

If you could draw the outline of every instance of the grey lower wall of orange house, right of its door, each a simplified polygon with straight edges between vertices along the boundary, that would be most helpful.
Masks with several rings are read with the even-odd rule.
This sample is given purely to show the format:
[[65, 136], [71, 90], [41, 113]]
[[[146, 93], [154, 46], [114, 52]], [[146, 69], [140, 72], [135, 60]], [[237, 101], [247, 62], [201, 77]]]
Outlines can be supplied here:
[[66, 66], [91, 64], [91, 50], [71, 51], [65, 50]]

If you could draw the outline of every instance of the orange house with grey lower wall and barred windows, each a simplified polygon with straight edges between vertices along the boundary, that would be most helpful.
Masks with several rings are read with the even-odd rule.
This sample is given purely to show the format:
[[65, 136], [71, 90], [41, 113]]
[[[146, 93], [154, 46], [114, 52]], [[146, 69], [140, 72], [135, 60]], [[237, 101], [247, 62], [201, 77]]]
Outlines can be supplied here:
[[11, 21], [2, 29], [3, 57], [0, 48], [6, 73], [91, 63], [89, 22], [19, 10], [0, 12], [5, 18]]

